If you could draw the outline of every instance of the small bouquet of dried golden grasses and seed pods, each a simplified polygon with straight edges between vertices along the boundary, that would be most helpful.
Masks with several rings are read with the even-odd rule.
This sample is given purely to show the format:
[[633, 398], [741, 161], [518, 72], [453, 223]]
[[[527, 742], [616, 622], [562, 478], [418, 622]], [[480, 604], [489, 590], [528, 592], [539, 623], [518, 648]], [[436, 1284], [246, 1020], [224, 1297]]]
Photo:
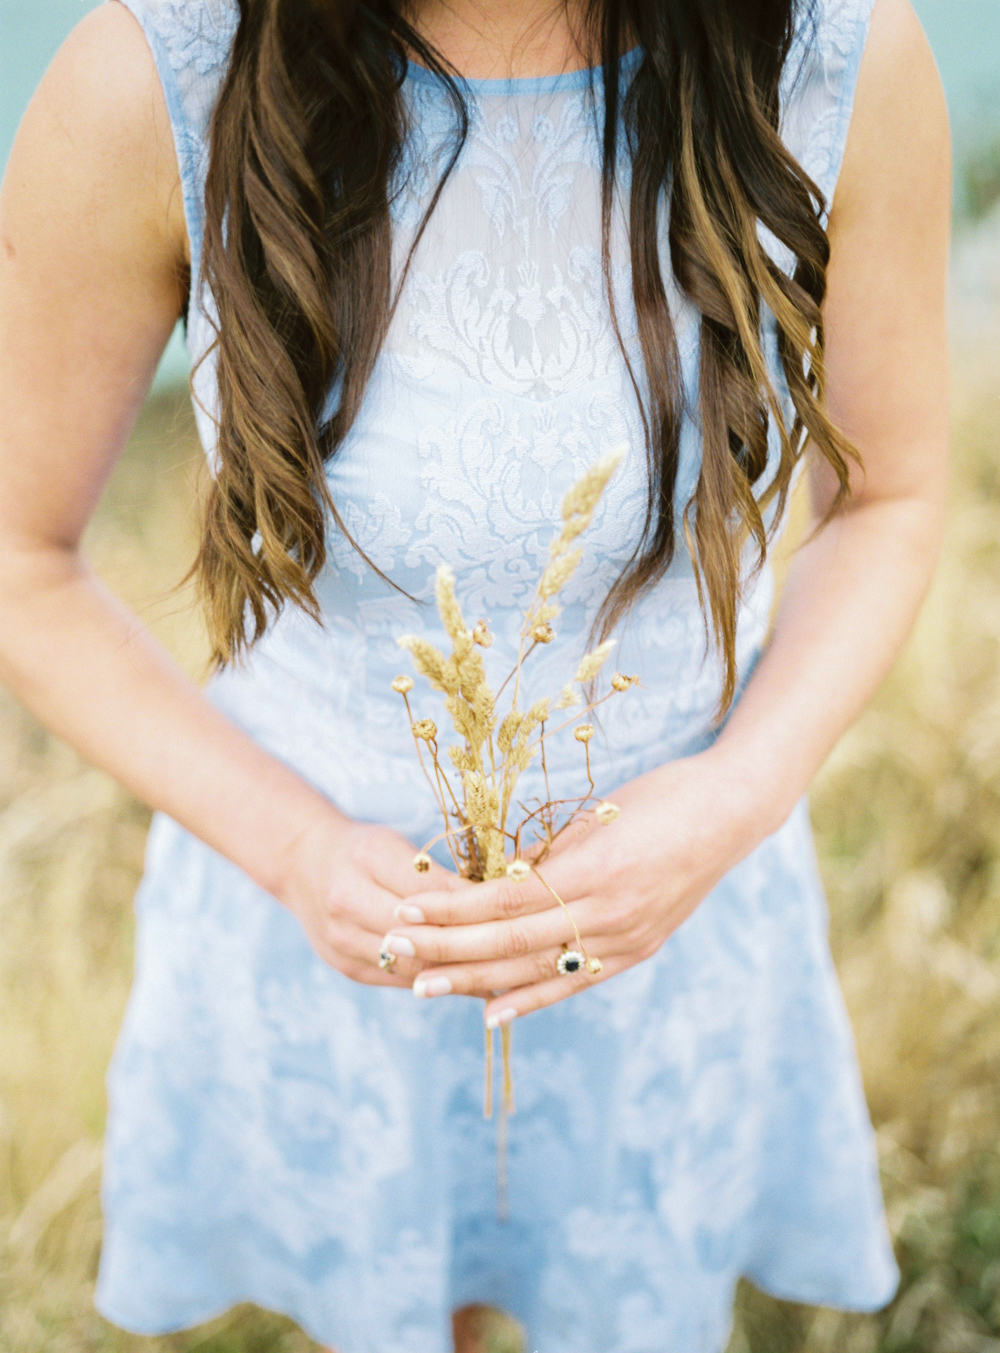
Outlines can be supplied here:
[[[624, 446], [602, 456], [583, 478], [570, 488], [562, 506], [562, 529], [549, 545], [549, 559], [539, 579], [535, 595], [524, 612], [517, 660], [494, 693], [486, 678], [480, 649], [493, 644], [486, 620], [472, 628], [465, 625], [455, 595], [455, 575], [447, 564], [437, 570], [436, 601], [441, 622], [452, 644], [445, 655], [426, 639], [405, 635], [398, 640], [409, 649], [413, 664], [434, 690], [444, 695], [444, 708], [459, 741], [441, 755], [437, 724], [432, 718], [414, 718], [409, 693], [411, 676], [396, 676], [392, 689], [406, 702], [410, 731], [417, 756], [428, 777], [430, 789], [441, 810], [444, 831], [429, 840], [414, 858], [414, 869], [430, 869], [428, 851], [437, 842], [447, 842], [456, 870], [472, 881], [499, 878], [507, 874], [514, 882], [525, 882], [532, 873], [548, 889], [553, 900], [566, 911], [576, 940], [576, 951], [564, 953], [560, 971], [576, 971], [586, 966], [590, 973], [601, 971], [601, 961], [587, 954], [572, 913], [562, 897], [539, 871], [553, 843], [581, 815], [594, 810], [602, 824], [618, 816], [618, 808], [606, 800], [598, 801], [590, 767], [590, 739], [594, 727], [581, 720], [606, 700], [636, 685], [637, 676], [616, 672], [610, 689], [593, 695], [594, 682], [601, 672], [614, 640], [609, 639], [586, 653], [576, 672], [562, 691], [552, 698], [533, 701], [526, 709], [518, 705], [524, 664], [541, 645], [555, 639], [552, 621], [562, 607], [556, 598], [576, 571], [583, 549], [574, 541], [590, 525], [608, 480], [614, 474]], [[501, 714], [498, 702], [509, 690], [506, 712]], [[581, 690], [583, 694], [581, 694]], [[570, 713], [570, 710], [575, 710]], [[566, 713], [555, 727], [553, 716]], [[571, 798], [552, 798], [549, 793], [545, 743], [571, 728], [583, 750], [586, 787]], [[517, 782], [530, 762], [539, 756], [545, 786], [545, 798], [533, 806], [516, 798]], [[509, 858], [509, 851], [512, 858]], [[502, 1030], [505, 1108], [513, 1111], [510, 1078], [510, 1027]], [[493, 1109], [493, 1034], [487, 1032], [486, 1115]]]

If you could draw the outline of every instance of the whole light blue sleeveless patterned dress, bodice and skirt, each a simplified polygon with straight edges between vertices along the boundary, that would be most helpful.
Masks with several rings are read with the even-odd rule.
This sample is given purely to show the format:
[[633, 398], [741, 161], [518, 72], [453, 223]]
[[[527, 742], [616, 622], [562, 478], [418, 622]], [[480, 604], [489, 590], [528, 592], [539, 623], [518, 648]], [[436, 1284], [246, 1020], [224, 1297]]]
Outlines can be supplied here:
[[[206, 126], [231, 0], [127, 0], [162, 78], [198, 275]], [[783, 135], [832, 196], [870, 0], [820, 0], [789, 62]], [[625, 61], [635, 61], [628, 57]], [[441, 641], [433, 572], [512, 658], [567, 487], [620, 442], [613, 479], [530, 693], [558, 690], [641, 526], [641, 425], [599, 268], [599, 145], [587, 73], [471, 81], [471, 131], [405, 284], [367, 400], [330, 467], [333, 498], [384, 586], [332, 528], [323, 626], [288, 609], [210, 698], [346, 813], [422, 842], [434, 805], [399, 697], [395, 637]], [[403, 257], [451, 131], [411, 69], [396, 200]], [[613, 239], [624, 338], [627, 252]], [[671, 304], [685, 379], [697, 319]], [[194, 356], [211, 338], [192, 307]], [[773, 353], [773, 334], [769, 334]], [[211, 409], [211, 364], [199, 396]], [[207, 453], [212, 423], [199, 414]], [[678, 503], [698, 433], [682, 438]], [[771, 605], [748, 590], [750, 671]], [[690, 561], [620, 633], [643, 690], [594, 743], [602, 793], [713, 736]], [[437, 697], [418, 687], [417, 708]], [[598, 746], [599, 743], [599, 746]], [[549, 770], [572, 792], [579, 748]], [[522, 782], [539, 789], [537, 770]], [[253, 785], [246, 786], [253, 793]], [[510, 1219], [482, 1116], [482, 1003], [417, 1001], [326, 967], [298, 921], [158, 816], [137, 900], [135, 986], [110, 1073], [99, 1308], [142, 1333], [231, 1303], [287, 1312], [340, 1353], [444, 1353], [449, 1311], [510, 1310], [540, 1353], [719, 1353], [733, 1285], [853, 1308], [896, 1269], [873, 1134], [827, 943], [805, 804], [732, 870], [655, 958], [514, 1030]]]

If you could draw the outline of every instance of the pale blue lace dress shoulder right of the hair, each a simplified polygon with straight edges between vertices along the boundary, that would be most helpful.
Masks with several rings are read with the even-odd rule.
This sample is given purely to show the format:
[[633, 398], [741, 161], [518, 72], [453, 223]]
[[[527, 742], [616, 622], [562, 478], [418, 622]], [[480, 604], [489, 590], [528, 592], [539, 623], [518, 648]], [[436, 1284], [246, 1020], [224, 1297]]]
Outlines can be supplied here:
[[813, 0], [800, 12], [782, 91], [782, 139], [827, 210], [847, 143], [874, 0]]

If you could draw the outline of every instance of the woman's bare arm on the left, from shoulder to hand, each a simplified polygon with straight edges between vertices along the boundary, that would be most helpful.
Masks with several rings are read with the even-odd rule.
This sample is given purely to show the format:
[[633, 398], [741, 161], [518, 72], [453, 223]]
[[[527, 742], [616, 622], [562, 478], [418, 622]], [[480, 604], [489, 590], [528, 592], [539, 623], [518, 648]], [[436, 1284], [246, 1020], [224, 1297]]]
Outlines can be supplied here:
[[[368, 850], [203, 698], [81, 555], [181, 310], [185, 264], [164, 95], [138, 24], [106, 4], [42, 81], [0, 191], [0, 679], [281, 897], [325, 958], [383, 980], [373, 961], [411, 850], [395, 836]], [[383, 859], [379, 881], [356, 877]]]

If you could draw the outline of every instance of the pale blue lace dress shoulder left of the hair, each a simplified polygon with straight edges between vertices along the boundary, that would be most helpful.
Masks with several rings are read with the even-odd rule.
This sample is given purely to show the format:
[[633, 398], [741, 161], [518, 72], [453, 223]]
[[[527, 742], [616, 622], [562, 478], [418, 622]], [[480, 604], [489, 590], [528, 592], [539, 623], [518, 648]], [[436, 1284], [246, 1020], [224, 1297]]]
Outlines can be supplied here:
[[177, 150], [191, 271], [198, 277], [208, 127], [238, 22], [235, 0], [120, 0], [146, 35]]

